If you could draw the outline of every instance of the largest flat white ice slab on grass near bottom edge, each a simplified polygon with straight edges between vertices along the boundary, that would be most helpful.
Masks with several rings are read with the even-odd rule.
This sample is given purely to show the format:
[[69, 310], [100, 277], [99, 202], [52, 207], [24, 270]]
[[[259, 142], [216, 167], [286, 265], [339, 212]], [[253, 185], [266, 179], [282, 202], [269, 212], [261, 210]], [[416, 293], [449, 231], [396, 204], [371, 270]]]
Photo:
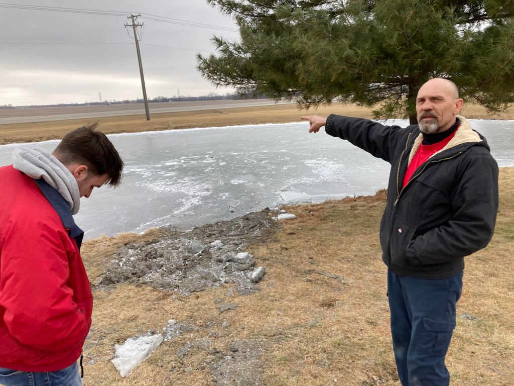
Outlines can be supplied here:
[[126, 377], [139, 363], [148, 359], [162, 342], [162, 335], [128, 338], [123, 344], [115, 344], [115, 357], [112, 360], [116, 370]]

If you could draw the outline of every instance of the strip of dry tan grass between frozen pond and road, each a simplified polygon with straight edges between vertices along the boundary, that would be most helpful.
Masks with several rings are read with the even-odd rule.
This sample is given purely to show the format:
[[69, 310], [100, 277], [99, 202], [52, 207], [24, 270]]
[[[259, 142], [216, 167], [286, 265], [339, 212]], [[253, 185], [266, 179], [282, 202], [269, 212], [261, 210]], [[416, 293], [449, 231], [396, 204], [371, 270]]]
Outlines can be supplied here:
[[[195, 127], [296, 122], [300, 120], [301, 115], [328, 115], [332, 113], [363, 118], [372, 117], [372, 109], [360, 108], [351, 104], [334, 103], [331, 106], [322, 106], [316, 110], [311, 109], [308, 111], [300, 111], [297, 104], [278, 104], [250, 108], [160, 113], [152, 114], [150, 121], [147, 121], [144, 115], [57, 120], [0, 125], [0, 145], [59, 139], [68, 131], [97, 120], [101, 124], [100, 130], [106, 134], [111, 134]], [[476, 104], [468, 104], [465, 106], [462, 114], [467, 118], [477, 119], [514, 119], [514, 107], [510, 107], [504, 113], [490, 116], [483, 107]]]

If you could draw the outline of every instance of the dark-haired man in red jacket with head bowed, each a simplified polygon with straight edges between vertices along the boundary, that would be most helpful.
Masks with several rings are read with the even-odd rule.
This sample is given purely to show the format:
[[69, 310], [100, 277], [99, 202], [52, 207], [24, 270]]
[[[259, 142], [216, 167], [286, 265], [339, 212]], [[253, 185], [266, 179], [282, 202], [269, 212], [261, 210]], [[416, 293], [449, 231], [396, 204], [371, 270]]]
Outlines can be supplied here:
[[0, 168], [0, 384], [82, 383], [93, 295], [72, 215], [94, 188], [119, 185], [123, 169], [96, 126], [66, 134], [52, 154], [16, 149]]

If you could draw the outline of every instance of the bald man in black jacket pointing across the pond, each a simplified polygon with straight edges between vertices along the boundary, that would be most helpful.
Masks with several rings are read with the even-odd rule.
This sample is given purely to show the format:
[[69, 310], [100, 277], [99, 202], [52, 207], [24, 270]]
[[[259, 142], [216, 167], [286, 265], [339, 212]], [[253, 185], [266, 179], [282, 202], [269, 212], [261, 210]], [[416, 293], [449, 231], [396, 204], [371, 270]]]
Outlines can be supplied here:
[[388, 267], [391, 332], [403, 386], [444, 386], [445, 356], [462, 292], [464, 257], [490, 241], [498, 211], [498, 165], [462, 116], [455, 84], [431, 79], [416, 99], [418, 125], [304, 116], [329, 135], [391, 163], [380, 223]]

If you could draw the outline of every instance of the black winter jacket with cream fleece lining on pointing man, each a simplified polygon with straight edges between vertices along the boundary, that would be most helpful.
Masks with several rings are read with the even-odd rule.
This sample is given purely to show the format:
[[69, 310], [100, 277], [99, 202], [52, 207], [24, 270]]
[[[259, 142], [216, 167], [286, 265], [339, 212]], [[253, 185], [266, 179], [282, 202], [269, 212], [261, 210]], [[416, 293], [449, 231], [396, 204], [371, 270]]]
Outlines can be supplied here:
[[389, 162], [386, 210], [380, 223], [382, 259], [398, 275], [442, 278], [464, 269], [464, 257], [491, 240], [498, 212], [498, 164], [486, 139], [461, 125], [402, 188], [421, 145], [417, 125], [405, 129], [368, 119], [330, 115], [327, 134]]

